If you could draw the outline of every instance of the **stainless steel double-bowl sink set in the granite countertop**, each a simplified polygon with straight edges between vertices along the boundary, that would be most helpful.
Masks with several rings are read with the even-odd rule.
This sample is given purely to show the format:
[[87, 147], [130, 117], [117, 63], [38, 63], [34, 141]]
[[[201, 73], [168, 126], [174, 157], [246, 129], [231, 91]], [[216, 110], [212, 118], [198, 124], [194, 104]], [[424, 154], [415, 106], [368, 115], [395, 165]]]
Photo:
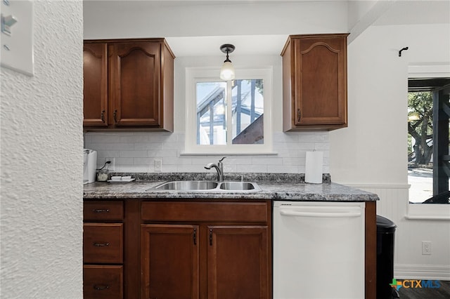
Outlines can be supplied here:
[[152, 190], [174, 191], [214, 191], [214, 192], [258, 192], [261, 188], [256, 182], [214, 182], [212, 180], [174, 180], [163, 182]]

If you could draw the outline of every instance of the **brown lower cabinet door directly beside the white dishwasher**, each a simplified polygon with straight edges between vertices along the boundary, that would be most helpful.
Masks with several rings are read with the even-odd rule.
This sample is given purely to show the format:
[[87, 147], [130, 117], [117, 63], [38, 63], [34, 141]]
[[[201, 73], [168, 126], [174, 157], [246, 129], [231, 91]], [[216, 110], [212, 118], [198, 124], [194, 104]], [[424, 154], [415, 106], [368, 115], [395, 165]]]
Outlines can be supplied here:
[[266, 226], [208, 226], [209, 299], [271, 298]]

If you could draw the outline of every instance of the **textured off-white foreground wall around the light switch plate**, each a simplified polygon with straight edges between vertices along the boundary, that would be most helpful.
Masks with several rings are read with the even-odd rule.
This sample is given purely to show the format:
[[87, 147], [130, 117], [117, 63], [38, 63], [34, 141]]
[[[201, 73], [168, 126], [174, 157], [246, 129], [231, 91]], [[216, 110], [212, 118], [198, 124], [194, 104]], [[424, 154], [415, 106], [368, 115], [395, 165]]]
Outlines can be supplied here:
[[34, 77], [1, 68], [1, 288], [82, 298], [82, 1], [33, 1]]

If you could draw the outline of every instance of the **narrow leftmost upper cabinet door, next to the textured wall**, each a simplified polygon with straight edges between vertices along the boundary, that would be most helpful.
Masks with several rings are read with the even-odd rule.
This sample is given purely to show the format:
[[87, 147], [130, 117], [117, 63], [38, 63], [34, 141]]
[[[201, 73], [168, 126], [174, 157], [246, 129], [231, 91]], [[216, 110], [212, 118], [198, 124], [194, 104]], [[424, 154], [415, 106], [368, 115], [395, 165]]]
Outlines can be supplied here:
[[84, 43], [84, 126], [108, 126], [108, 55], [105, 43]]

